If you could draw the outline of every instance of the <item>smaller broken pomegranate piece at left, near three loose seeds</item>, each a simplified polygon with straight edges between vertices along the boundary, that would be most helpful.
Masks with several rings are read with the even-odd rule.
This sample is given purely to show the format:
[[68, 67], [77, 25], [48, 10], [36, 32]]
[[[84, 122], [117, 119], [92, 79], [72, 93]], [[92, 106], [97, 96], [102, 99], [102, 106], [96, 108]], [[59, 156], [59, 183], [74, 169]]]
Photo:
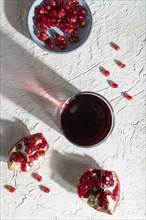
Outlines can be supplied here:
[[24, 137], [10, 149], [8, 168], [22, 172], [29, 171], [43, 158], [48, 148], [49, 144], [41, 133]]

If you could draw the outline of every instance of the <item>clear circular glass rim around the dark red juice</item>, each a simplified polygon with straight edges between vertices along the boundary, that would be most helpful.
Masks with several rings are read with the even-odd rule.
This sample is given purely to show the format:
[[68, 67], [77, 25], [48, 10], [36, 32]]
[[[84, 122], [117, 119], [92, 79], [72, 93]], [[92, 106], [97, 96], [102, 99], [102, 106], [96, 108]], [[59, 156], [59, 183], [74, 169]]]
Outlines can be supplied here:
[[[98, 143], [90, 144], [90, 145], [81, 145], [81, 144], [77, 144], [77, 143], [71, 141], [71, 140], [66, 136], [66, 134], [65, 134], [65, 132], [64, 132], [64, 130], [63, 130], [63, 128], [62, 128], [62, 125], [61, 125], [61, 114], [62, 114], [64, 108], [66, 107], [66, 105], [67, 105], [71, 100], [73, 100], [75, 97], [77, 97], [77, 96], [79, 96], [79, 95], [84, 95], [84, 94], [89, 94], [89, 95], [93, 95], [93, 96], [96, 96], [96, 97], [100, 98], [100, 99], [107, 105], [107, 107], [109, 108], [110, 113], [111, 113], [111, 127], [110, 127], [109, 132], [108, 132], [107, 135], [103, 138], [103, 140], [101, 140], [101, 141], [98, 142]], [[113, 110], [112, 105], [110, 104], [110, 102], [109, 102], [104, 96], [102, 96], [102, 95], [100, 95], [99, 93], [96, 93], [96, 92], [91, 92], [91, 91], [78, 92], [78, 93], [76, 93], [75, 95], [73, 95], [73, 96], [67, 98], [66, 101], [65, 101], [65, 102], [63, 103], [63, 105], [61, 106], [59, 114], [60, 114], [60, 120], [59, 120], [60, 128], [61, 128], [61, 130], [62, 130], [62, 133], [63, 133], [64, 137], [65, 137], [70, 143], [72, 143], [72, 144], [74, 144], [74, 145], [76, 145], [76, 146], [79, 146], [79, 147], [90, 148], [90, 147], [95, 147], [95, 146], [97, 146], [97, 145], [103, 143], [103, 142], [110, 136], [110, 134], [112, 133], [112, 131], [113, 131], [114, 127], [115, 127], [115, 115], [114, 115], [114, 110]]]

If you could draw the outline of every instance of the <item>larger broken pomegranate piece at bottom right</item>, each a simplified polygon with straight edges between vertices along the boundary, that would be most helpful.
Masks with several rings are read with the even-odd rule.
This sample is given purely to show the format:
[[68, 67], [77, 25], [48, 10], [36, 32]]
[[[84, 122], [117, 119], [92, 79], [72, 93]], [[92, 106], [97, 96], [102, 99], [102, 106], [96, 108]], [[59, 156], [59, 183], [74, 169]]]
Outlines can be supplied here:
[[79, 180], [78, 195], [94, 209], [113, 214], [120, 197], [120, 183], [114, 171], [89, 169]]

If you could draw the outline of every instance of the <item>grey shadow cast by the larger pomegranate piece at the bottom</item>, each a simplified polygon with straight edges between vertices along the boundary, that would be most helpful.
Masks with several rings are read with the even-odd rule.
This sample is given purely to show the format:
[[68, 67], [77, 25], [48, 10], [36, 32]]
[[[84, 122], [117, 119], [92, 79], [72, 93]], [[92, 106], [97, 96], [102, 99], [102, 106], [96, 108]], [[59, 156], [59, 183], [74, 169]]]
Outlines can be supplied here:
[[51, 178], [67, 191], [76, 193], [80, 176], [90, 168], [100, 168], [99, 164], [88, 155], [60, 154], [53, 150], [50, 165]]

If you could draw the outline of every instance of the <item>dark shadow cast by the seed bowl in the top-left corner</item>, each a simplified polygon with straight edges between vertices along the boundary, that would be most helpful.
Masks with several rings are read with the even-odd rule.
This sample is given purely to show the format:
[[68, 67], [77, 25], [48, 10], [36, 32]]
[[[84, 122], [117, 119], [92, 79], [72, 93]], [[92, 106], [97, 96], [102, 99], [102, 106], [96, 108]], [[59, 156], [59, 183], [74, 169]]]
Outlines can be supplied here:
[[30, 38], [27, 31], [27, 13], [34, 0], [4, 1], [5, 15], [10, 24], [25, 37]]

